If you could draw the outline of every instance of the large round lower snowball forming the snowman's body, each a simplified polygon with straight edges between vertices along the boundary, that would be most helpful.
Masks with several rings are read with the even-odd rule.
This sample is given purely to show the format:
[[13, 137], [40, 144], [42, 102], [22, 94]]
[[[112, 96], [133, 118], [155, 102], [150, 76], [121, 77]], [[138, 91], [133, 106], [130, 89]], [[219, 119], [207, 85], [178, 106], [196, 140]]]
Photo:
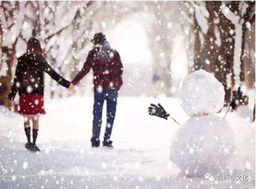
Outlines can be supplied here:
[[186, 175], [221, 173], [234, 151], [234, 134], [221, 117], [195, 116], [181, 125], [173, 140], [170, 160]]

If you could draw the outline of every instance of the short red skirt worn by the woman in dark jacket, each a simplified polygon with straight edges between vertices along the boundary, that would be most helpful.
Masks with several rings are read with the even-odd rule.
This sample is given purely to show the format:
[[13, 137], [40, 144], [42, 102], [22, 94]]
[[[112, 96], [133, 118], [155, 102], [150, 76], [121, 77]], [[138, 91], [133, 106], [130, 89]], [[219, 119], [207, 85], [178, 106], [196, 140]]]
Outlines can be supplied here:
[[22, 115], [45, 114], [43, 95], [21, 95], [19, 98], [19, 113]]

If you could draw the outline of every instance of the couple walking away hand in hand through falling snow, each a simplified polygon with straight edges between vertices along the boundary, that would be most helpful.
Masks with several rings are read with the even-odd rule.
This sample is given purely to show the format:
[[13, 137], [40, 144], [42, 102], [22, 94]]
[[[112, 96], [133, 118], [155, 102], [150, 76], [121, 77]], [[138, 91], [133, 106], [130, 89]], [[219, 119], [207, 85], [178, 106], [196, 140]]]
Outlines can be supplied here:
[[[39, 115], [45, 114], [44, 72], [48, 73], [59, 84], [71, 90], [91, 68], [94, 76], [93, 136], [91, 138], [91, 146], [99, 147], [100, 145], [102, 108], [106, 100], [107, 125], [102, 144], [106, 147], [112, 147], [110, 136], [116, 114], [118, 90], [123, 84], [123, 65], [119, 53], [110, 48], [105, 35], [96, 33], [91, 42], [93, 42], [94, 47], [89, 52], [83, 68], [72, 82], [65, 80], [50, 67], [42, 56], [41, 45], [37, 39], [30, 38], [27, 42], [27, 52], [18, 58], [14, 82], [8, 98], [14, 100], [16, 93], [19, 93], [19, 113], [24, 116], [24, 128], [27, 137], [25, 147], [28, 150], [40, 151], [35, 142], [38, 135]], [[30, 122], [33, 124], [32, 142], [30, 140]]]

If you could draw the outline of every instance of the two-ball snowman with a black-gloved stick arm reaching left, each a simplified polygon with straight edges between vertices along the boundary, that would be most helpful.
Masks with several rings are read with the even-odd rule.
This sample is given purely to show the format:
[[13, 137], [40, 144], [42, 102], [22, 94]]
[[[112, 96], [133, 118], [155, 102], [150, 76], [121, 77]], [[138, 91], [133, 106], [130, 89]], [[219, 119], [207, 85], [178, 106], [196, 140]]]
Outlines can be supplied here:
[[[181, 175], [221, 174], [233, 158], [234, 132], [225, 118], [214, 115], [222, 109], [224, 96], [223, 85], [204, 70], [189, 74], [180, 84], [180, 104], [191, 118], [180, 125], [171, 145], [170, 160]], [[160, 104], [151, 104], [148, 112], [166, 120], [170, 117]]]

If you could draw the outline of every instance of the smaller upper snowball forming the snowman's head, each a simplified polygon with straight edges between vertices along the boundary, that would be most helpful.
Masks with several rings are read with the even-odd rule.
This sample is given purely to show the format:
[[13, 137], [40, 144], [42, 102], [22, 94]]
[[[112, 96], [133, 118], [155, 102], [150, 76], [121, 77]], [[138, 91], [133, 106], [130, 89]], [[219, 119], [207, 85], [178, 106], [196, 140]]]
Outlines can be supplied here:
[[225, 91], [211, 73], [198, 70], [181, 82], [178, 96], [189, 116], [200, 116], [218, 112], [223, 107]]

